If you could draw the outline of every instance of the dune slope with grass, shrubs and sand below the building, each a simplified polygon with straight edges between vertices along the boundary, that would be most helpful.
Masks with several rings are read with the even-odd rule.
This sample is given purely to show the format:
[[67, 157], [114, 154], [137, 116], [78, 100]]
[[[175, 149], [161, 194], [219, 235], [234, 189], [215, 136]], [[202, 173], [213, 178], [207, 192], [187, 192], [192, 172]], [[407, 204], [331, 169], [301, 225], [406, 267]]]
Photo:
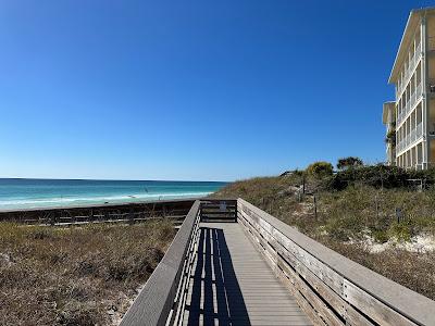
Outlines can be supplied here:
[[326, 163], [236, 181], [213, 197], [241, 197], [341, 254], [435, 299], [435, 171], [407, 172], [345, 158], [333, 174]]

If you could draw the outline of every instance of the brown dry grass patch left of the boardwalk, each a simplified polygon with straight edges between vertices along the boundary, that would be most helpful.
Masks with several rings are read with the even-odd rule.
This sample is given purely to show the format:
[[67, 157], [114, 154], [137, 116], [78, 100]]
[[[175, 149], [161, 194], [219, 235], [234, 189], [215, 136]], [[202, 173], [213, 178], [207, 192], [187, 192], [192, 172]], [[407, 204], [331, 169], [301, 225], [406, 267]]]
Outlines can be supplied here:
[[0, 325], [110, 325], [175, 235], [171, 222], [0, 224]]

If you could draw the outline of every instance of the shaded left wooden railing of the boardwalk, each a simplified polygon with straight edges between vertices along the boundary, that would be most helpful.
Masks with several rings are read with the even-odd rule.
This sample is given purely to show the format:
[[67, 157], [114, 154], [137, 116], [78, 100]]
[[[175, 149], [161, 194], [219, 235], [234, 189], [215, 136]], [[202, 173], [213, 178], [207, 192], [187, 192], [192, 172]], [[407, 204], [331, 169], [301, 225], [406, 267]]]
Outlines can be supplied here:
[[200, 201], [195, 201], [162, 261], [146, 283], [121, 326], [166, 325], [179, 318], [195, 255]]

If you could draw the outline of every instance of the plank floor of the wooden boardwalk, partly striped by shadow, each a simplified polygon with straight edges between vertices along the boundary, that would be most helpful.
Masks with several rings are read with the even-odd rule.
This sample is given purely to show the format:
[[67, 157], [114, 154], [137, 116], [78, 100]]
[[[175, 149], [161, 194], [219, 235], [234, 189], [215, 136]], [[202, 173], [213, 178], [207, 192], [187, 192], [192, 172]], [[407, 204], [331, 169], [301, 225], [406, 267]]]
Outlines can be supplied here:
[[184, 325], [312, 325], [238, 223], [201, 223]]

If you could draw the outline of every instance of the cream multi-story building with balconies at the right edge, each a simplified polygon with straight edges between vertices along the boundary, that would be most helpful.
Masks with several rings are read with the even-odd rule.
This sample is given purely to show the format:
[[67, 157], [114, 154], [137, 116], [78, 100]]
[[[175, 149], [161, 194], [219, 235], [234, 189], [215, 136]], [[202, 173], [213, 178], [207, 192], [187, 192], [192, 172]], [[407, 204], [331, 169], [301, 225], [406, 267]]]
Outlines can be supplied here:
[[383, 122], [396, 140], [387, 137], [387, 161], [427, 168], [435, 163], [435, 7], [411, 11], [388, 83], [396, 101], [384, 104]]

